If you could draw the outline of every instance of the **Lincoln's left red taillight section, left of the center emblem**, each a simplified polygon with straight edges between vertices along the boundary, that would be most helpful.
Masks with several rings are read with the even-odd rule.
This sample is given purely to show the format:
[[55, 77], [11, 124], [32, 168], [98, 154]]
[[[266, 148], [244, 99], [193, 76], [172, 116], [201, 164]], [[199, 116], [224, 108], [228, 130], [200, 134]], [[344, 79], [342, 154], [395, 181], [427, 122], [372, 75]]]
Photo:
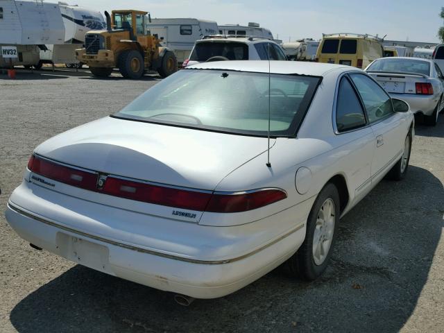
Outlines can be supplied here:
[[70, 167], [44, 160], [41, 157], [33, 155], [28, 162], [28, 168], [33, 173], [48, 177], [58, 182], [68, 185], [89, 189], [96, 189], [97, 174], [89, 173]]

